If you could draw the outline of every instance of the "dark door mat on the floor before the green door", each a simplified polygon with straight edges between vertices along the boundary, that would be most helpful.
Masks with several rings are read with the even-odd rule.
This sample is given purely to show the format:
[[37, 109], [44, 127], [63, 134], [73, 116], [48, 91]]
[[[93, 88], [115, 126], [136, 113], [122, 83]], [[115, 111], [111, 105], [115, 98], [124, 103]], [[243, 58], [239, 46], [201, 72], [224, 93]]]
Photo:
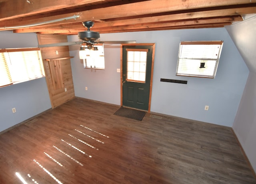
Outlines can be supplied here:
[[114, 115], [117, 116], [122, 116], [126, 118], [131, 118], [134, 120], [139, 120], [141, 121], [143, 117], [145, 116], [146, 112], [142, 110], [136, 110], [136, 109], [131, 109], [131, 108], [125, 108], [125, 107], [120, 107]]

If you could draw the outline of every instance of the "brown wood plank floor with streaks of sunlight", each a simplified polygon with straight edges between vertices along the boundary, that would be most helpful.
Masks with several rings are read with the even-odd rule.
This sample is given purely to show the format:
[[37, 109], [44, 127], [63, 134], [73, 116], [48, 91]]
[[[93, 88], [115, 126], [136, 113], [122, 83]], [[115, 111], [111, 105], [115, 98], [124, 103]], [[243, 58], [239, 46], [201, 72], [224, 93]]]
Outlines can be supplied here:
[[256, 183], [231, 128], [118, 108], [76, 98], [1, 134], [0, 183]]

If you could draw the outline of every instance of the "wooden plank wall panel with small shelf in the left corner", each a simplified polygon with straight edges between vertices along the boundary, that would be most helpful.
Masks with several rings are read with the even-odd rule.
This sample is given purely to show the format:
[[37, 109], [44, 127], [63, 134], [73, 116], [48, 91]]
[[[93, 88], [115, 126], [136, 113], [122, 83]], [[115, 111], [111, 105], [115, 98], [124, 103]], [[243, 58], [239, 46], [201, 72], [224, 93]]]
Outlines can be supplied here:
[[[39, 44], [59, 42], [67, 42], [67, 36], [38, 34]], [[55, 108], [75, 97], [68, 46], [46, 47], [40, 50], [52, 108]]]

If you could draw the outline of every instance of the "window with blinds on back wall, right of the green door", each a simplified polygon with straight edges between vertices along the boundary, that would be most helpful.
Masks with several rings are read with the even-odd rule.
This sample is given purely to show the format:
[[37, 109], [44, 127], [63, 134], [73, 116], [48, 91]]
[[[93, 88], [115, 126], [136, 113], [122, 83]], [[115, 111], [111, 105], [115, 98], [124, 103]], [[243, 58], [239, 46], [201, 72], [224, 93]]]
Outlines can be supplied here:
[[180, 42], [177, 76], [214, 78], [223, 41]]

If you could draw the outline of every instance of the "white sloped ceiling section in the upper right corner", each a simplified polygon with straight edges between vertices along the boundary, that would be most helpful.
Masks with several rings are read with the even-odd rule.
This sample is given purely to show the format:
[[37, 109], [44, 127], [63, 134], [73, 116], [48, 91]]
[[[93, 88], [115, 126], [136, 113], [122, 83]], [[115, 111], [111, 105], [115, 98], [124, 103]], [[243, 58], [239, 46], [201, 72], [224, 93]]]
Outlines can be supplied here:
[[256, 73], [256, 14], [248, 19], [226, 26], [250, 72]]

